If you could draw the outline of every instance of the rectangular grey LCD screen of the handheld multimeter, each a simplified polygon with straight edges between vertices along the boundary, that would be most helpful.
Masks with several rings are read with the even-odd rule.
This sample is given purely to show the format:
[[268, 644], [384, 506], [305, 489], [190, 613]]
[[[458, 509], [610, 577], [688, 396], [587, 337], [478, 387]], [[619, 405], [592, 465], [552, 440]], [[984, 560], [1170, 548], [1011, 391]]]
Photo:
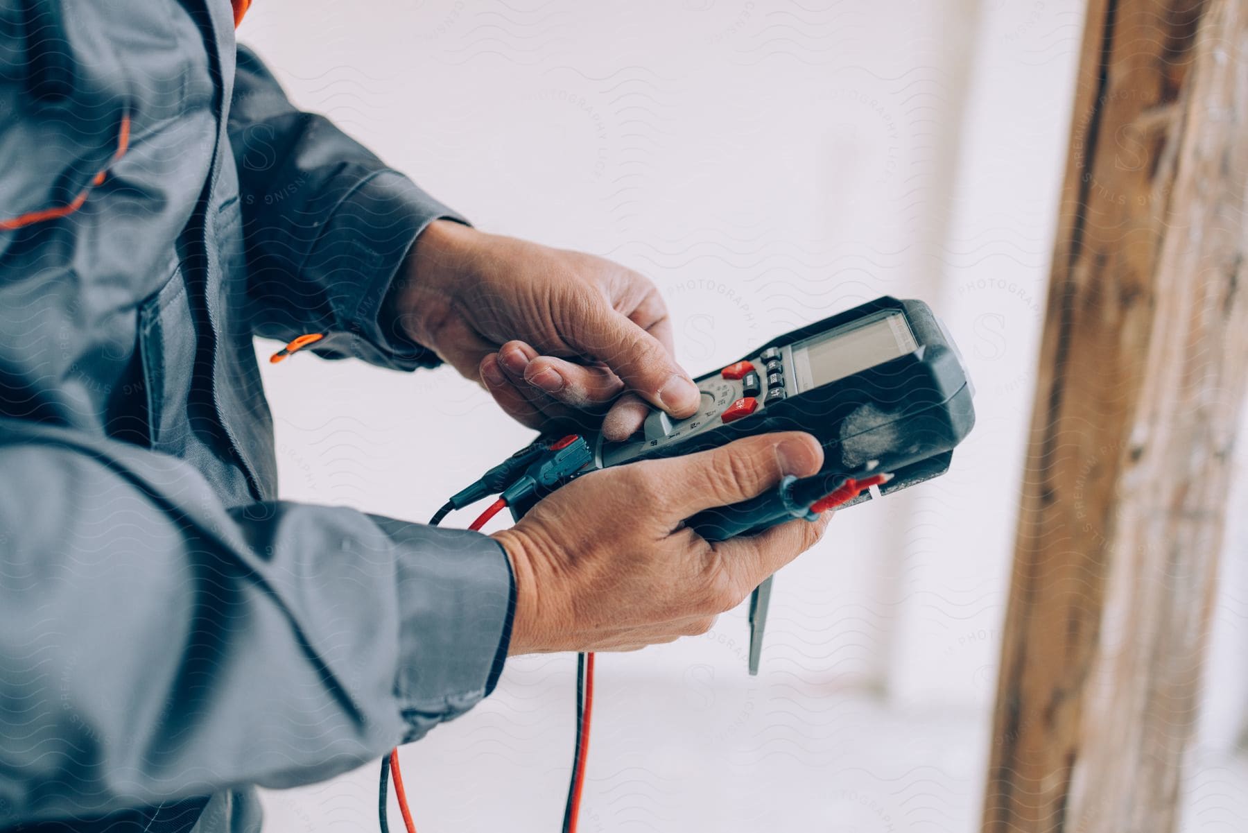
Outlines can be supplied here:
[[797, 392], [852, 376], [919, 348], [901, 312], [855, 321], [792, 346]]

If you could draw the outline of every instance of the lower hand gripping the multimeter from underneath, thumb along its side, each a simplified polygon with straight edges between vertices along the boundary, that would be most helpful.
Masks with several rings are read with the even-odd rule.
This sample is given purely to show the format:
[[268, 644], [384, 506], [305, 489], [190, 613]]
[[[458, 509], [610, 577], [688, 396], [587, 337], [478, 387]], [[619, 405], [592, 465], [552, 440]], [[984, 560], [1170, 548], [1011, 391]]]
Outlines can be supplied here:
[[550, 495], [498, 540], [515, 573], [510, 654], [629, 651], [705, 633], [807, 550], [831, 512], [710, 543], [681, 522], [810, 476], [807, 433], [769, 433], [684, 457], [607, 468]]

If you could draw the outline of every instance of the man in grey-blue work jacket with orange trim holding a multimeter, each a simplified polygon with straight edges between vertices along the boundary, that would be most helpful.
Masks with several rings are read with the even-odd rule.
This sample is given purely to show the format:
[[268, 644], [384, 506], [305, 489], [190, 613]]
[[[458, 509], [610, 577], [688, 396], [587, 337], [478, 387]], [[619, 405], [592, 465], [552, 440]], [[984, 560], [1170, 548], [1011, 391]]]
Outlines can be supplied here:
[[0, 828], [256, 831], [251, 784], [419, 738], [508, 654], [704, 632], [822, 530], [680, 526], [816, 471], [806, 435], [493, 537], [277, 501], [256, 335], [447, 361], [534, 427], [698, 395], [649, 282], [475, 231], [295, 110], [241, 5], [0, 0]]

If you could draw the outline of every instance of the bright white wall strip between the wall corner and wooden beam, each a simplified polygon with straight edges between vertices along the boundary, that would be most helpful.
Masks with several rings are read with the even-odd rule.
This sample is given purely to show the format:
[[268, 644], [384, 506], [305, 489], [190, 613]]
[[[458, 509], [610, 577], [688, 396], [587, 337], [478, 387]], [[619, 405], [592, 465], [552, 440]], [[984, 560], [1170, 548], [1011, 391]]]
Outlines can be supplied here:
[[987, 707], [996, 693], [1082, 22], [1077, 2], [987, 2], [968, 59], [932, 303], [973, 375], [977, 425], [958, 452], [958, 476], [912, 508], [932, 527], [904, 550], [899, 587], [909, 603], [897, 611], [890, 664], [901, 702]]

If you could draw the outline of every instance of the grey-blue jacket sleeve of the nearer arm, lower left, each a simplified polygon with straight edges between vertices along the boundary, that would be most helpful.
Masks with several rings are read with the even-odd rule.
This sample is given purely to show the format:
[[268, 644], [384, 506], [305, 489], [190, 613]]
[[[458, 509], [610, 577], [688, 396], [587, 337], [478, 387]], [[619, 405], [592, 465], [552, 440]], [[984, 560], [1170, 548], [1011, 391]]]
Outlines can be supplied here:
[[182, 461], [12, 418], [0, 472], [0, 827], [321, 781], [497, 679], [488, 537], [227, 511]]

